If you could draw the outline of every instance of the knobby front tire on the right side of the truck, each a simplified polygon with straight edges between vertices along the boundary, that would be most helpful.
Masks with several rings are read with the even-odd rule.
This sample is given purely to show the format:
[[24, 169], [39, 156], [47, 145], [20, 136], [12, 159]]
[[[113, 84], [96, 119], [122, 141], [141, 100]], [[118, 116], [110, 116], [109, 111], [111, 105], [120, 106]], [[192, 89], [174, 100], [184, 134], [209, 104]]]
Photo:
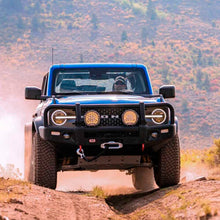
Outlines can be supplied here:
[[179, 183], [180, 144], [178, 135], [170, 139], [157, 152], [154, 161], [154, 178], [160, 188]]

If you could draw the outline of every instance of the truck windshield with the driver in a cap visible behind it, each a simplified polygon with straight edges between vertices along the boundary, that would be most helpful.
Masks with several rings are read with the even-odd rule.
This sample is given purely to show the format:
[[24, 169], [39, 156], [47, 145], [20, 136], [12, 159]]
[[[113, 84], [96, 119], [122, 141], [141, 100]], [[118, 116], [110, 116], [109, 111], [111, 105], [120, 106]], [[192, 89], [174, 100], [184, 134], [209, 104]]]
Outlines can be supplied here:
[[149, 94], [142, 69], [60, 69], [55, 73], [54, 94]]

